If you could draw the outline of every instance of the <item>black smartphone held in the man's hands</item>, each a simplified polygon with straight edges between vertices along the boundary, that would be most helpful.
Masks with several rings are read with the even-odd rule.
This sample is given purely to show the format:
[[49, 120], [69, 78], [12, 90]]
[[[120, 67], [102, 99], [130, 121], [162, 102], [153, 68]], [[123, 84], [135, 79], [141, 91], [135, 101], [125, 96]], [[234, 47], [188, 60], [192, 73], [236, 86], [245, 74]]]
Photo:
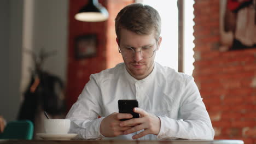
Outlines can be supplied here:
[[[131, 113], [132, 118], [138, 118], [139, 114], [133, 112], [133, 108], [138, 107], [137, 99], [120, 99], [118, 100], [119, 113]], [[120, 119], [120, 121], [126, 121], [128, 119]]]

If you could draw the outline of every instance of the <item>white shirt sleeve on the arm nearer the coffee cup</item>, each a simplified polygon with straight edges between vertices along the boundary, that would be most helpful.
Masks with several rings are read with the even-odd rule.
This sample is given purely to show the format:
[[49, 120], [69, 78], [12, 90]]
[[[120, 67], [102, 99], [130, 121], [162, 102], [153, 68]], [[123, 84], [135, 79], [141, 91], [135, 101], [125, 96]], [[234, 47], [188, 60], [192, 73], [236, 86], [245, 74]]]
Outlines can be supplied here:
[[78, 100], [69, 110], [66, 118], [71, 120], [69, 133], [78, 134], [78, 139], [98, 139], [103, 137], [100, 134], [100, 124], [104, 117], [101, 115], [101, 91], [93, 75], [86, 83]]

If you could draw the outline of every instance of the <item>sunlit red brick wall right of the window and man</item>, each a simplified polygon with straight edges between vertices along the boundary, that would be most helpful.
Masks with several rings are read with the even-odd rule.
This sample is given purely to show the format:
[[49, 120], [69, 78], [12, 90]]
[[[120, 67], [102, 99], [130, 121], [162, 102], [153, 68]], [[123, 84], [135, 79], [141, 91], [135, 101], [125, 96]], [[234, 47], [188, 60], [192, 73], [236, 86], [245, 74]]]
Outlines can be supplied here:
[[194, 9], [193, 76], [210, 113], [214, 139], [256, 143], [256, 47], [219, 52], [219, 0], [196, 0]]

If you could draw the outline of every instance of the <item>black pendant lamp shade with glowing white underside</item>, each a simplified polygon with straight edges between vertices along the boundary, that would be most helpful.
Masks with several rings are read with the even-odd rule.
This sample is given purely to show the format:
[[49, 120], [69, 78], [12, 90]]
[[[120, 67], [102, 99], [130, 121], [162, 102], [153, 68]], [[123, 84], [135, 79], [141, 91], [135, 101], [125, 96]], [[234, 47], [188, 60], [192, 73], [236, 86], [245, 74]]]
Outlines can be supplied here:
[[108, 11], [98, 3], [98, 0], [89, 0], [89, 3], [75, 14], [75, 19], [86, 22], [105, 21], [108, 19]]

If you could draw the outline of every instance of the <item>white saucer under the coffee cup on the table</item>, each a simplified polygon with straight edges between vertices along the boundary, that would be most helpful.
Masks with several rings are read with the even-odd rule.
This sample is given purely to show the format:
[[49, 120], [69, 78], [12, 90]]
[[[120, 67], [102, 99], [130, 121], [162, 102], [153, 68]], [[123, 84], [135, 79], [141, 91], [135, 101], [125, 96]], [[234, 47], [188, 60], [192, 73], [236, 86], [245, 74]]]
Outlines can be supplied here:
[[45, 133], [41, 133], [37, 135], [44, 140], [71, 140], [75, 136], [77, 136], [77, 134], [45, 134]]

